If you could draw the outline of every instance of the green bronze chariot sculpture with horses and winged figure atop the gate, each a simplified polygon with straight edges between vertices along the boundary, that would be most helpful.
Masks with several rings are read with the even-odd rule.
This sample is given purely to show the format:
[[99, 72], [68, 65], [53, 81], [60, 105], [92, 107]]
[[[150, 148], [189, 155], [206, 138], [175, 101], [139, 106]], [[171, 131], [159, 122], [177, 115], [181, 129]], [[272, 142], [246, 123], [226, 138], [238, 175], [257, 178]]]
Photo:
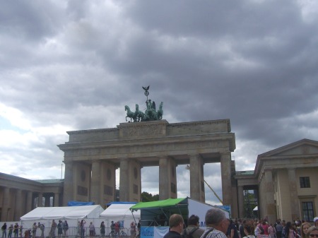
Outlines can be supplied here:
[[147, 97], [146, 100], [146, 111], [141, 112], [139, 110], [139, 105], [136, 104], [135, 112], [132, 112], [129, 106], [125, 106], [126, 114], [126, 121], [129, 118], [129, 122], [137, 122], [137, 121], [156, 121], [163, 119], [163, 102], [160, 102], [158, 110], [155, 109], [155, 102], [151, 102], [151, 99], [148, 99], [148, 87], [142, 87], [145, 90], [145, 95]]

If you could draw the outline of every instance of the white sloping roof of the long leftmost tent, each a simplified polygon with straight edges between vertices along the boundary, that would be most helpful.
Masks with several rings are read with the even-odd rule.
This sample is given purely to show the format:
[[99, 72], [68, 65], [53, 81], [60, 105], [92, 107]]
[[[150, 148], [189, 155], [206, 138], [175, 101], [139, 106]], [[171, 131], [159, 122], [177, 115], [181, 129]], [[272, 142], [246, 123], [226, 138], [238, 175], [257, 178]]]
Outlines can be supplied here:
[[70, 207], [38, 207], [23, 215], [20, 220], [98, 218], [104, 209], [100, 205]]

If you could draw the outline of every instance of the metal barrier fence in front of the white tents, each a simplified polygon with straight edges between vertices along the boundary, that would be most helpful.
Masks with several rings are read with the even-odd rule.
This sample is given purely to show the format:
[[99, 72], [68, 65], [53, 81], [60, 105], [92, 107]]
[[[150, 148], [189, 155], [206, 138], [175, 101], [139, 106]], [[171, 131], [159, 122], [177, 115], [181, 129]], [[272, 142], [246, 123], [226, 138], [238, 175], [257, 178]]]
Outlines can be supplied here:
[[[100, 233], [100, 227], [95, 227], [94, 235], [90, 236], [90, 228], [84, 227], [84, 234], [81, 235], [81, 229], [79, 227], [69, 227], [68, 230], [64, 231], [62, 230], [62, 234], [58, 234], [58, 228], [54, 230], [54, 232], [51, 230], [51, 227], [45, 227], [45, 229], [42, 231], [40, 228], [37, 228], [35, 235], [33, 235], [33, 231], [30, 229], [23, 228], [22, 230], [19, 230], [18, 237], [25, 237], [25, 231], [29, 230], [30, 238], [66, 238], [66, 237], [104, 237]], [[22, 234], [21, 234], [22, 233]], [[8, 231], [7, 231], [8, 234]], [[14, 238], [14, 233], [12, 233], [12, 238]], [[111, 230], [110, 227], [105, 227], [105, 237], [108, 238], [128, 238], [130, 237], [130, 229], [127, 228], [120, 228], [118, 232], [115, 232]]]

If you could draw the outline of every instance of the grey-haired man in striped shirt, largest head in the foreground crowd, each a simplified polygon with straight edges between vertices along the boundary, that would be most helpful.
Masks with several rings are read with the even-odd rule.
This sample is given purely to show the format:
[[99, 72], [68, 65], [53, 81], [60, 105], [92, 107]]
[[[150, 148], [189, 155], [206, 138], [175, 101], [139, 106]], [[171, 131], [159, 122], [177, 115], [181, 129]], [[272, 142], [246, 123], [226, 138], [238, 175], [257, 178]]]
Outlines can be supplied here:
[[206, 212], [206, 230], [201, 238], [227, 238], [225, 234], [229, 225], [223, 210], [211, 208]]

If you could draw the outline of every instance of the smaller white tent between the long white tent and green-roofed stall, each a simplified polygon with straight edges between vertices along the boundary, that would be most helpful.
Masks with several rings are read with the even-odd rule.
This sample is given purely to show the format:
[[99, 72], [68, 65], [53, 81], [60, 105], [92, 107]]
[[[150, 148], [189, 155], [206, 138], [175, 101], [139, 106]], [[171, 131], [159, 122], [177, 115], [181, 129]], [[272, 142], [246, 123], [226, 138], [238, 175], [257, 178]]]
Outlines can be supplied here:
[[140, 210], [131, 213], [131, 208], [135, 204], [112, 204], [102, 213], [100, 213], [100, 218], [105, 218], [108, 221], [108, 227], [110, 227], [110, 222], [120, 222], [122, 227], [127, 229], [130, 228], [131, 222], [139, 222]]

